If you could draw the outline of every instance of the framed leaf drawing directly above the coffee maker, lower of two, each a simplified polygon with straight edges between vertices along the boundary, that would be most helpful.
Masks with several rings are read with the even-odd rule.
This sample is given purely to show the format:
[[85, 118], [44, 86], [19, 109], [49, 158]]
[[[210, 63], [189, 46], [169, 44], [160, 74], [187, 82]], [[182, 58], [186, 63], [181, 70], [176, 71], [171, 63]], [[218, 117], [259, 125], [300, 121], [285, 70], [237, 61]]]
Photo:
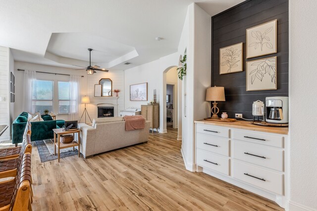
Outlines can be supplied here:
[[247, 91], [276, 89], [276, 56], [247, 62]]

